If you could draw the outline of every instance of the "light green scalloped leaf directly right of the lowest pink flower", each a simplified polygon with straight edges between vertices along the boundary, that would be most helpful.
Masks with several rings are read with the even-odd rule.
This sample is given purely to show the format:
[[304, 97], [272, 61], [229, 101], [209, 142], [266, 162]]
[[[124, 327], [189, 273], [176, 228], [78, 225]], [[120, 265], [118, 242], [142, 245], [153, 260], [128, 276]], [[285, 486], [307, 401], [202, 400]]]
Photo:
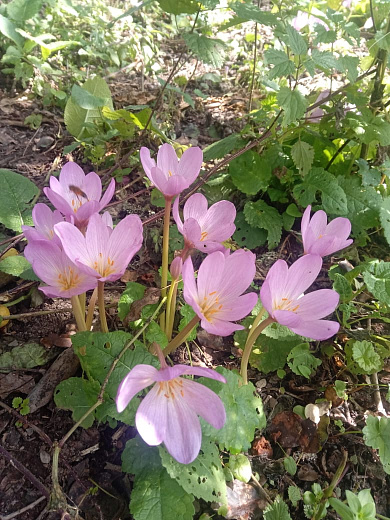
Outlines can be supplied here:
[[226, 378], [226, 384], [206, 378], [199, 382], [222, 399], [226, 423], [221, 430], [215, 430], [202, 420], [203, 431], [221, 447], [239, 453], [250, 448], [256, 429], [265, 428], [263, 404], [252, 383], [242, 385], [241, 376], [222, 367], [218, 367], [217, 372]]

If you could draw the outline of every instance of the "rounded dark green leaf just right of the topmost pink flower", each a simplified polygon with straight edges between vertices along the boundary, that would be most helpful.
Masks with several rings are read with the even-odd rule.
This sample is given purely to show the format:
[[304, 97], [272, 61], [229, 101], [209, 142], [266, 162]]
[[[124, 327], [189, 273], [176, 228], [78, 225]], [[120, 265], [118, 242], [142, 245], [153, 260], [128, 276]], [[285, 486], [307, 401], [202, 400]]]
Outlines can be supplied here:
[[271, 182], [271, 165], [253, 150], [248, 150], [229, 164], [234, 185], [246, 195], [266, 190]]

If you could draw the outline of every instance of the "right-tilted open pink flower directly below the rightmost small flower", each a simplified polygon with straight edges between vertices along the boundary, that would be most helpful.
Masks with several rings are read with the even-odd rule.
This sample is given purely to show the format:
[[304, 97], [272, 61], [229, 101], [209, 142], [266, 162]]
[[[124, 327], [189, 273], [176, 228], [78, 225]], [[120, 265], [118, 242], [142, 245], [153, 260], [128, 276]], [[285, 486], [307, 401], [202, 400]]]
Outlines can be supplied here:
[[317, 278], [322, 259], [305, 255], [290, 268], [277, 260], [269, 270], [260, 290], [260, 298], [268, 314], [296, 334], [316, 340], [328, 339], [339, 330], [335, 321], [322, 320], [338, 305], [339, 295], [332, 289], [303, 292]]

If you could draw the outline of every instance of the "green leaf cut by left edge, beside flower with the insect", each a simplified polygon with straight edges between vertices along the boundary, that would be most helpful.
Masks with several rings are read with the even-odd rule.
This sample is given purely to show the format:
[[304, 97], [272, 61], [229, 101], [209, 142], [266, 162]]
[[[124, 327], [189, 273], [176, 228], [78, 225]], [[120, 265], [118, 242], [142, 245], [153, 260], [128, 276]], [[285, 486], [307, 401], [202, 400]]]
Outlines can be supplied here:
[[27, 177], [0, 168], [0, 223], [18, 233], [32, 225], [29, 202], [38, 191]]

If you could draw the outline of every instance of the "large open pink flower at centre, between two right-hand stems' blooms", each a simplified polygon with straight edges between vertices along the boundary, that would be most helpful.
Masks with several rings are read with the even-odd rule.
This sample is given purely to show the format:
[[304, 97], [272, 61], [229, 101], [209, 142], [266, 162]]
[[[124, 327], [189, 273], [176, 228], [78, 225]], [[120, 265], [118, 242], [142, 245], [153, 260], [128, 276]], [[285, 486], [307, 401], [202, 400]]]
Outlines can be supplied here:
[[241, 320], [257, 303], [257, 295], [242, 295], [255, 276], [255, 255], [239, 249], [229, 256], [216, 251], [205, 258], [195, 282], [191, 258], [183, 265], [184, 299], [201, 318], [210, 334], [229, 336], [244, 327], [231, 323]]

